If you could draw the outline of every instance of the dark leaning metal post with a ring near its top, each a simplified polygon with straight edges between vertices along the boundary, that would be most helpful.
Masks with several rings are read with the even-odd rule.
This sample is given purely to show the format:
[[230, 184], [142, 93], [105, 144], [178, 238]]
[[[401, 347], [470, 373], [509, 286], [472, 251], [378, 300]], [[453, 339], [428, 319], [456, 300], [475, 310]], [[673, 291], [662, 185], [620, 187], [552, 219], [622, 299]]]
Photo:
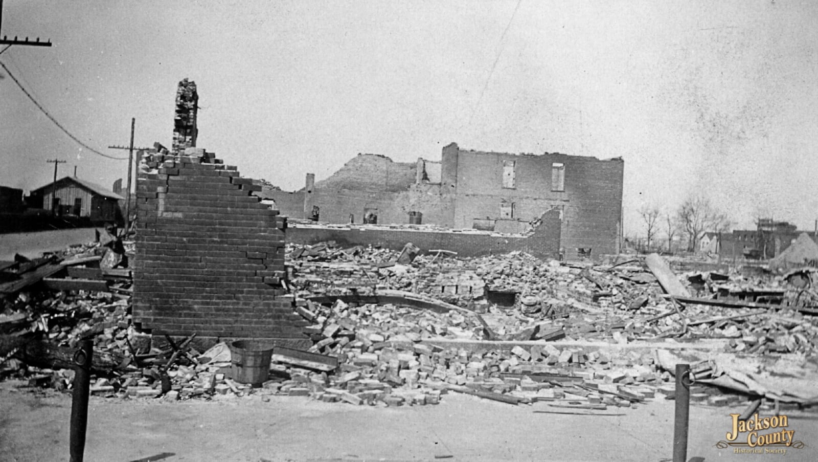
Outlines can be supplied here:
[[94, 344], [92, 340], [79, 342], [74, 353], [74, 394], [71, 399], [70, 462], [83, 462], [85, 452], [85, 429], [88, 427], [88, 391], [91, 387], [91, 362]]

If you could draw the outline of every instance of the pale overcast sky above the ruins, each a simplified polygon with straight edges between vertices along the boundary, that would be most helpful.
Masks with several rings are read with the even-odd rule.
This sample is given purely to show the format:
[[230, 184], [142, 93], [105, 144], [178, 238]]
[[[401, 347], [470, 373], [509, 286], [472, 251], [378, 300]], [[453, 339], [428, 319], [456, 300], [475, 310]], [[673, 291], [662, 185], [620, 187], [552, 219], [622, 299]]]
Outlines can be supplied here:
[[[625, 161], [625, 232], [642, 204], [709, 197], [737, 227], [818, 219], [818, 2], [192, 2], [5, 0], [0, 55], [90, 147], [170, 146], [196, 81], [199, 147], [285, 189], [358, 152], [495, 152]], [[127, 162], [80, 147], [0, 69], [0, 185], [53, 164], [111, 188]]]

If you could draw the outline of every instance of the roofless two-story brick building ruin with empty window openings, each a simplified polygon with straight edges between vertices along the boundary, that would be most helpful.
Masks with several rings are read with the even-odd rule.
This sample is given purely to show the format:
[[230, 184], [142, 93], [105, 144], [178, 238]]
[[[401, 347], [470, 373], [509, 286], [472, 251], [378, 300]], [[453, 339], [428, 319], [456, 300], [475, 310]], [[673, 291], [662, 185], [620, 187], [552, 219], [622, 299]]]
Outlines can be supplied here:
[[512, 234], [558, 211], [553, 247], [573, 259], [618, 251], [623, 170], [621, 158], [466, 151], [452, 143], [441, 161], [362, 154], [327, 179], [308, 174], [300, 191], [265, 188], [263, 197], [282, 215], [327, 224], [422, 223]]

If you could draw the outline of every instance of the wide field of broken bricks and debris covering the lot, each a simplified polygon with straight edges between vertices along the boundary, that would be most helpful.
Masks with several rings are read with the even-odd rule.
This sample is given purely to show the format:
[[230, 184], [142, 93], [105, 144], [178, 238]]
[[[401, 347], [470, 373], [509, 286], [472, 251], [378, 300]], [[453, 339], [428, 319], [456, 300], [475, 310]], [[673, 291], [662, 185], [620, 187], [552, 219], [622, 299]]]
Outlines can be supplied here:
[[[91, 270], [102, 257], [89, 256], [101, 251], [99, 244], [71, 247], [51, 258], [87, 261], [85, 270]], [[519, 252], [457, 259], [445, 251], [407, 256], [331, 242], [288, 251], [294, 311], [311, 323], [304, 333], [312, 347], [293, 354], [276, 347], [261, 387], [236, 382], [223, 343], [203, 353], [191, 347], [195, 335], [151, 342], [138, 333], [130, 322], [127, 279], [104, 291], [41, 289], [6, 297], [0, 307], [0, 378], [70, 387], [70, 353], [80, 338], [93, 338], [92, 393], [100, 396], [279, 394], [424, 405], [461, 392], [511, 404], [548, 401], [573, 408], [555, 412], [582, 412], [632, 405], [656, 392], [672, 396], [665, 351], [698, 353], [691, 353], [699, 357], [692, 365], [702, 384], [692, 399], [726, 405], [741, 398], [703, 383], [760, 395], [771, 388], [753, 374], [745, 377], [757, 378], [756, 386], [735, 386], [727, 380], [726, 360], [712, 358], [724, 352], [732, 358], [762, 355], [809, 369], [805, 361], [818, 343], [815, 317], [793, 304], [807, 300], [808, 271], [780, 277], [689, 272], [680, 279], [699, 298], [685, 298], [665, 294], [638, 260], [567, 264]], [[503, 297], [505, 302], [496, 302]], [[812, 402], [804, 393], [775, 396]]]

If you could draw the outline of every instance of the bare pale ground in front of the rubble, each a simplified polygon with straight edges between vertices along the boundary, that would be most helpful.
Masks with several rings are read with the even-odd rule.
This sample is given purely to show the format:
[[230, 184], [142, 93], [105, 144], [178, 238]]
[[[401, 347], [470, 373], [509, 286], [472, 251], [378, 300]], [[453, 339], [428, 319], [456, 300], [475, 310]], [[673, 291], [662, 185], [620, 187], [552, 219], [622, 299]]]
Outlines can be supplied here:
[[[68, 460], [69, 394], [0, 384], [0, 459]], [[506, 405], [447, 395], [439, 405], [352, 406], [306, 397], [226, 401], [92, 396], [85, 460], [630, 460], [672, 459], [674, 402], [659, 397], [618, 415], [544, 414], [545, 403]], [[714, 445], [729, 408], [693, 405], [688, 458], [818, 460], [816, 414], [791, 413], [807, 446], [786, 455], [734, 454]], [[696, 459], [694, 459], [696, 460]], [[698, 459], [702, 460], [702, 459]]]

